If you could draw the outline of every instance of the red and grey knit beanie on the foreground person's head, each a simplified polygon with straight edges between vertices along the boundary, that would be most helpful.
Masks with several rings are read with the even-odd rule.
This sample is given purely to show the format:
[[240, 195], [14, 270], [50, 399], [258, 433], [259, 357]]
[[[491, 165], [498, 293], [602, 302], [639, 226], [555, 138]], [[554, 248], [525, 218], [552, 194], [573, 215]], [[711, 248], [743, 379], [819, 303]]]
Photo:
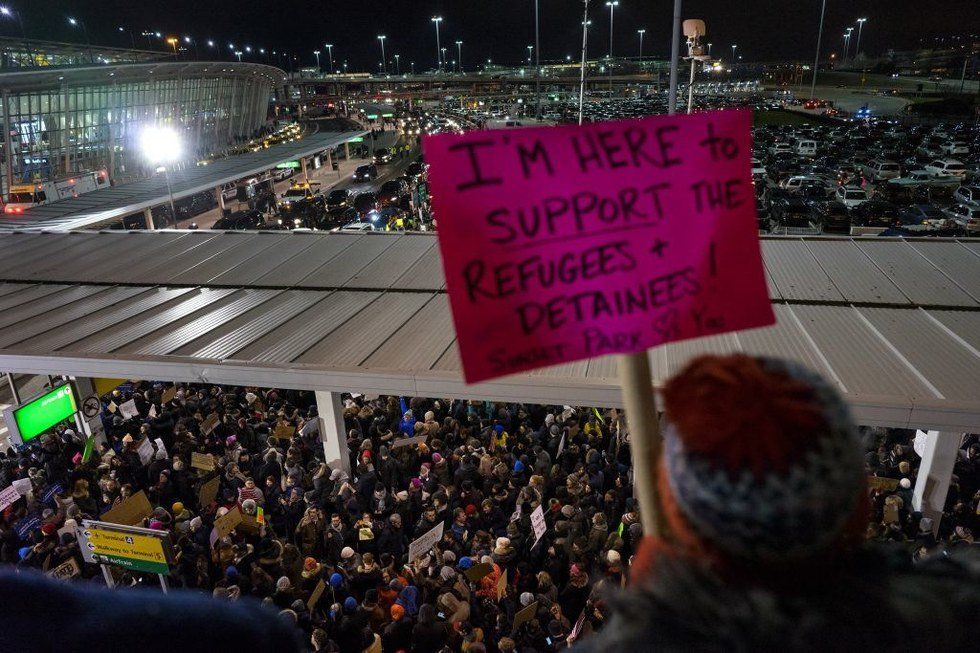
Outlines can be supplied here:
[[860, 537], [867, 504], [857, 429], [819, 375], [772, 358], [702, 356], [663, 396], [661, 492], [682, 545], [786, 562]]

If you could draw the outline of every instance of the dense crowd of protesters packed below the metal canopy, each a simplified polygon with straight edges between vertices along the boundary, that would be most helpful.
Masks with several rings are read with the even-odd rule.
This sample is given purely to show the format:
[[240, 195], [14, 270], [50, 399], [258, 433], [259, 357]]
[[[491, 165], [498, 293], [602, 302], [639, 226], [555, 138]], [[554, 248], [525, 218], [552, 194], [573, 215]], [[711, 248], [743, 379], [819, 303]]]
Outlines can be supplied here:
[[[138, 415], [127, 418], [129, 401]], [[0, 561], [50, 571], [74, 559], [69, 582], [105, 583], [75, 529], [143, 492], [153, 509], [139, 525], [169, 531], [177, 552], [172, 591], [260, 601], [309, 650], [547, 652], [603, 629], [642, 539], [620, 413], [343, 402], [349, 460], [325, 461], [312, 392], [125, 384], [102, 398], [106, 442], [94, 450], [65, 428], [2, 455], [0, 489], [29, 478], [31, 492], [0, 516]], [[914, 432], [861, 434], [864, 475], [898, 479], [870, 494], [869, 538], [899, 542], [909, 559], [973, 543], [976, 436], [962, 443], [934, 536], [911, 509]], [[215, 520], [236, 510], [248, 528], [220, 536]], [[441, 539], [409, 559], [413, 540], [440, 523]], [[160, 591], [152, 575], [111, 573], [117, 586]]]

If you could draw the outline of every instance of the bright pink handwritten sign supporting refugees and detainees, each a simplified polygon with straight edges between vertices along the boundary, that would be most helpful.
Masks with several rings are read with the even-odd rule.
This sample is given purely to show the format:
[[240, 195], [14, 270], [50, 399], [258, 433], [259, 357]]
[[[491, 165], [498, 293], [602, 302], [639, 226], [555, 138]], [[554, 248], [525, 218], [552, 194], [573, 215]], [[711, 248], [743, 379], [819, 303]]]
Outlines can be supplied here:
[[423, 142], [467, 382], [775, 322], [752, 114]]

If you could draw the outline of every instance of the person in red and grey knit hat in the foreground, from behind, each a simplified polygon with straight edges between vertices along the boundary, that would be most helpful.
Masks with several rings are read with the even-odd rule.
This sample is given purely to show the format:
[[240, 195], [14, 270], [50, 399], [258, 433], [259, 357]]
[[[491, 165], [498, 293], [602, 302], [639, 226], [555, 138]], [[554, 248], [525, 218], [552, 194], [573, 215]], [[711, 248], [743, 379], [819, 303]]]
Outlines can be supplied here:
[[662, 397], [661, 459], [636, 464], [653, 467], [666, 528], [576, 653], [975, 647], [975, 562], [909, 568], [860, 548], [863, 449], [834, 385], [794, 362], [702, 356]]

